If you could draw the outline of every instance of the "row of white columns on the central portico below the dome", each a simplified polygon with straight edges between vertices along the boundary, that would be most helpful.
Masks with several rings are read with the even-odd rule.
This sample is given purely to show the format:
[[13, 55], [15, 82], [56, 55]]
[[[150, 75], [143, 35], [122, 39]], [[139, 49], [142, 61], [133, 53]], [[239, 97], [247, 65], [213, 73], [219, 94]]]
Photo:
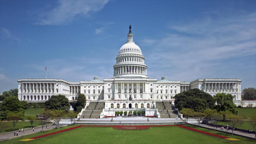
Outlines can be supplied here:
[[[121, 89], [118, 89], [118, 85], [121, 84]], [[127, 89], [125, 87], [125, 84], [127, 85]], [[131, 84], [131, 86], [129, 86], [129, 84]], [[134, 86], [135, 84], [135, 86]], [[142, 84], [142, 86], [140, 86], [140, 84]], [[143, 93], [145, 92], [145, 82], [143, 83], [118, 83], [115, 82], [115, 93]]]

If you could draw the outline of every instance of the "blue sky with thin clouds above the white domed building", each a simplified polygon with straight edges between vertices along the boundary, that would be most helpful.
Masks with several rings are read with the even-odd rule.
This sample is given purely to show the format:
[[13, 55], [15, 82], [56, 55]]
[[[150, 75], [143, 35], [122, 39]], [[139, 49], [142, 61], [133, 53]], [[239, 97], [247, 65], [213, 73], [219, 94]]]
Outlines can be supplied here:
[[256, 87], [255, 1], [0, 1], [0, 93], [17, 79], [113, 76], [132, 25], [148, 76]]

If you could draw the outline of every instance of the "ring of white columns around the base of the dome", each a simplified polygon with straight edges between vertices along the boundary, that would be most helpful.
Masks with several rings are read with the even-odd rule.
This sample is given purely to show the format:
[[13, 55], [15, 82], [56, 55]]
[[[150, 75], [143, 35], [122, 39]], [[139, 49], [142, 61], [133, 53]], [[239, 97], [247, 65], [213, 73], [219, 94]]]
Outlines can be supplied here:
[[147, 75], [147, 68], [141, 66], [120, 66], [114, 68], [114, 75], [116, 74], [145, 74]]

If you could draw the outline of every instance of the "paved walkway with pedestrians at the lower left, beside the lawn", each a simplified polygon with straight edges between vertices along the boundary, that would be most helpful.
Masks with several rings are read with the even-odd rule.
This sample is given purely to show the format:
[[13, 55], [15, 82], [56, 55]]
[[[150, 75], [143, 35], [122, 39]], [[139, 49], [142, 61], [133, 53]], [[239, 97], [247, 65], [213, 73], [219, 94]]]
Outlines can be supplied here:
[[[63, 125], [59, 125], [59, 127], [62, 127]], [[50, 129], [54, 129], [56, 127], [56, 125], [52, 125], [52, 124], [48, 124], [47, 125], [47, 129], [46, 129], [46, 125], [44, 126], [43, 128], [43, 131], [47, 131], [47, 130], [50, 130]], [[2, 140], [6, 140], [6, 139], [11, 139], [11, 138], [17, 138], [17, 137], [20, 137], [20, 136], [26, 136], [26, 135], [29, 135], [29, 134], [35, 134], [37, 132], [40, 132], [42, 130], [42, 127], [35, 127], [35, 130], [33, 131], [33, 129], [25, 129], [23, 130], [23, 132], [19, 132], [19, 130], [16, 130], [15, 132], [18, 132], [18, 136], [14, 136], [14, 132], [12, 133], [6, 133], [6, 134], [1, 134], [0, 135], [0, 141]]]

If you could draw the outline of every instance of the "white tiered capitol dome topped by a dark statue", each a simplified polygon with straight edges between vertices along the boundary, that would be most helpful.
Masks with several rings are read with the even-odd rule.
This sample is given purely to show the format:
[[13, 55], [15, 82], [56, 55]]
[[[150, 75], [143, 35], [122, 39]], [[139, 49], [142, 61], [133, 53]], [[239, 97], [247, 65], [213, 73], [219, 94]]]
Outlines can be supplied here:
[[147, 77], [147, 65], [144, 64], [144, 56], [138, 45], [133, 42], [131, 25], [127, 34], [127, 42], [120, 48], [116, 57], [114, 77]]

